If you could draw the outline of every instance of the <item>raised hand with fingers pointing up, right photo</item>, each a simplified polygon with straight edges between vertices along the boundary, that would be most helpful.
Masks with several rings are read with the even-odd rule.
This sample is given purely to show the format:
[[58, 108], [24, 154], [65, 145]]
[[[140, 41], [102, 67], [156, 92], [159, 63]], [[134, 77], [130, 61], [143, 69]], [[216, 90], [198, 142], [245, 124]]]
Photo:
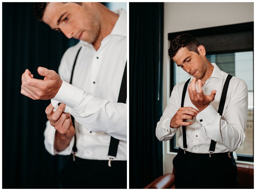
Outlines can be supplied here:
[[214, 100], [216, 90], [212, 91], [211, 95], [205, 95], [202, 91], [201, 80], [198, 80], [196, 91], [196, 78], [194, 77], [188, 86], [188, 94], [193, 105], [196, 106], [199, 111], [202, 111]]

